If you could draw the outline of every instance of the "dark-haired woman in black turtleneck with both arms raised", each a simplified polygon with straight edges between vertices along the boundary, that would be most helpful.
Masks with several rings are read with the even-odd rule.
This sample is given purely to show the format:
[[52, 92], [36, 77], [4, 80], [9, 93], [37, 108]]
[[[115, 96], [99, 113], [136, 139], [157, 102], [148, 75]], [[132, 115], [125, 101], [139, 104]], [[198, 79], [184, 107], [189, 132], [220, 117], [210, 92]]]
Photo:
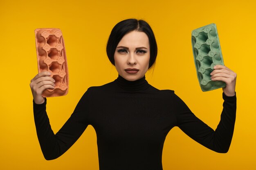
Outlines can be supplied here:
[[118, 78], [90, 87], [56, 135], [45, 111], [46, 98], [41, 96], [43, 90], [54, 88], [54, 79], [41, 72], [31, 80], [36, 131], [45, 159], [65, 153], [89, 124], [97, 133], [100, 170], [162, 170], [164, 139], [174, 126], [211, 150], [228, 151], [236, 117], [233, 71], [216, 65], [211, 73], [213, 81], [227, 84], [221, 120], [213, 131], [174, 91], [156, 89], [145, 80], [157, 56], [155, 36], [145, 21], [119, 22], [108, 39], [107, 54]]

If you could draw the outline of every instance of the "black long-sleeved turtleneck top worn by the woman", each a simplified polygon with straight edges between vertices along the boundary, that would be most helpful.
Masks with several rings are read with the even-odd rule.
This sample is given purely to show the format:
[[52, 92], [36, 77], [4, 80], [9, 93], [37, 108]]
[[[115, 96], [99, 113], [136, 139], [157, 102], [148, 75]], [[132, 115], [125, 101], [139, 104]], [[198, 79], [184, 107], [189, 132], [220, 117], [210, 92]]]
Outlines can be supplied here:
[[159, 90], [145, 77], [90, 87], [74, 112], [54, 135], [43, 104], [34, 103], [38, 140], [45, 159], [68, 150], [90, 124], [97, 133], [100, 170], [162, 170], [162, 150], [168, 132], [178, 126], [203, 146], [219, 153], [229, 150], [236, 119], [236, 96], [224, 99], [214, 131], [198, 119], [172, 90]]

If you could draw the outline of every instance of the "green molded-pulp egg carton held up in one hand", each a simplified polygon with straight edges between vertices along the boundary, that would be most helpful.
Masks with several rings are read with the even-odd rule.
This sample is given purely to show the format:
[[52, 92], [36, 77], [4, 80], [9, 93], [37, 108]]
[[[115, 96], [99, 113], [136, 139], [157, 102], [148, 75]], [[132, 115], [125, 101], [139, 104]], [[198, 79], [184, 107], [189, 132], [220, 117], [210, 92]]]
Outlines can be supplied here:
[[198, 81], [203, 92], [225, 87], [222, 81], [211, 81], [215, 65], [224, 65], [216, 24], [192, 31], [192, 49]]

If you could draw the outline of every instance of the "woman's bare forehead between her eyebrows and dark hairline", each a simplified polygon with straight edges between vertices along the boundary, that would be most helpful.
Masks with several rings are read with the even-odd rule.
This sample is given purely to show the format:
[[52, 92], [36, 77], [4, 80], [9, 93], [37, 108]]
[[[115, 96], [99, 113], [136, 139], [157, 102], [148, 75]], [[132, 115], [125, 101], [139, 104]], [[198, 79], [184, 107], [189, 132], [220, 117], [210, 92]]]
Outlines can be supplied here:
[[131, 31], [124, 35], [117, 46], [126, 46], [129, 48], [144, 46], [149, 48], [148, 36], [144, 32]]

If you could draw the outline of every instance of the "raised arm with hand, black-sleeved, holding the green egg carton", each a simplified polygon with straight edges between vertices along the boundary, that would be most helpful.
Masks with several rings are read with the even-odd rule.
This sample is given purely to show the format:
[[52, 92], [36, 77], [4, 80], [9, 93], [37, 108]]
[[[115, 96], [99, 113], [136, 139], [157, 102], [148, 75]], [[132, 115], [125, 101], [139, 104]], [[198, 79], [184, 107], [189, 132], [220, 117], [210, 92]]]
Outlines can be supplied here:
[[178, 97], [177, 102], [183, 106], [177, 108], [177, 122], [180, 129], [198, 143], [218, 153], [227, 153], [236, 120], [236, 73], [224, 65], [216, 65], [214, 69], [212, 80], [226, 83], [222, 94], [223, 110], [216, 130], [198, 119]]

